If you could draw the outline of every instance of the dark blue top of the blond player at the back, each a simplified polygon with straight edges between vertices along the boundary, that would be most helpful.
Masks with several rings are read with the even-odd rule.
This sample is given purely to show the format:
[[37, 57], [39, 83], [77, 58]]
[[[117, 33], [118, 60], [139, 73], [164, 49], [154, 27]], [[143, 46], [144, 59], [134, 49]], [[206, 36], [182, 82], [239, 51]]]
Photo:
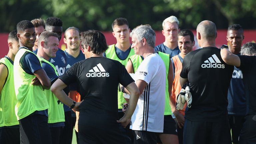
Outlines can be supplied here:
[[167, 46], [164, 45], [164, 43], [158, 45], [158, 46], [155, 46], [155, 51], [158, 52], [163, 52], [163, 53], [167, 53], [170, 55], [170, 58], [176, 56], [177, 54], [180, 53], [180, 49], [179, 47], [177, 46], [175, 49], [170, 49], [168, 48]]

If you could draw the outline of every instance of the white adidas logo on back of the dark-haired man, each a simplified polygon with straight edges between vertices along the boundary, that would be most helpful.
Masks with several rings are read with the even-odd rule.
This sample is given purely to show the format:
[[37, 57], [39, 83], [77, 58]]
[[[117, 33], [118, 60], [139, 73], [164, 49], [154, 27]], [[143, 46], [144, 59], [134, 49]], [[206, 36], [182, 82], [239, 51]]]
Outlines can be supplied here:
[[106, 73], [105, 69], [100, 63], [89, 70], [89, 72], [90, 73], [86, 74], [86, 77], [109, 77], [109, 73]]

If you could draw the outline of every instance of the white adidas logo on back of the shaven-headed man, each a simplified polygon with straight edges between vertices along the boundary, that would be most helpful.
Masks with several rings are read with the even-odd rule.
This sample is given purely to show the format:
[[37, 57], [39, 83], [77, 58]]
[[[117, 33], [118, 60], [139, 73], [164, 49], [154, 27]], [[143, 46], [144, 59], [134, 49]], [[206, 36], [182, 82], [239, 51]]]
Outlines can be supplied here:
[[225, 65], [221, 64], [216, 54], [209, 57], [208, 60], [204, 61], [204, 63], [207, 64], [202, 64], [202, 68], [225, 68]]

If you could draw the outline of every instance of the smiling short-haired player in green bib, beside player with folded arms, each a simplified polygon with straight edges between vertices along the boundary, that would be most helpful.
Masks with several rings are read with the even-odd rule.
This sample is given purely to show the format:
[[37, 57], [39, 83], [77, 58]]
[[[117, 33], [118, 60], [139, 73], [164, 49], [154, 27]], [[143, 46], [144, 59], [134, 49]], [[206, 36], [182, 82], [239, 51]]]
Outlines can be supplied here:
[[[43, 32], [38, 39], [37, 56], [42, 63], [42, 68], [51, 79], [51, 84], [58, 79], [58, 73], [53, 64], [48, 60], [56, 57], [58, 51], [58, 35], [53, 32]], [[52, 143], [59, 143], [61, 128], [64, 126], [65, 116], [63, 104], [50, 91], [45, 90], [46, 98], [49, 104], [48, 125], [51, 131]]]

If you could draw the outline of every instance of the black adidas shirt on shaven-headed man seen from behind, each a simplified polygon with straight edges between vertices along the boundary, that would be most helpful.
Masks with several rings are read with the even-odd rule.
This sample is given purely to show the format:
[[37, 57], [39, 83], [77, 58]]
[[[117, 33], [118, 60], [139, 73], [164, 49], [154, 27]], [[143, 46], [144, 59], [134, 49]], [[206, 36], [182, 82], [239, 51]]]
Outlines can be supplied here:
[[188, 53], [182, 63], [180, 76], [188, 78], [192, 106], [186, 108], [190, 121], [223, 121], [228, 111], [228, 88], [234, 66], [226, 64], [220, 49], [204, 47]]

